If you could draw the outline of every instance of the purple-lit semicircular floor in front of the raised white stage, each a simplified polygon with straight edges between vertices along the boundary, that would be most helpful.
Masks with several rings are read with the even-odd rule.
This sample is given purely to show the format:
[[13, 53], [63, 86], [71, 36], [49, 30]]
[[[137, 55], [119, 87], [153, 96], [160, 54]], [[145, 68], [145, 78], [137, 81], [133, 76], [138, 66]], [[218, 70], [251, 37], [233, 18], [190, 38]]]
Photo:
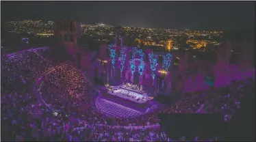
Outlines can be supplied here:
[[147, 96], [148, 100], [145, 103], [138, 103], [109, 94], [105, 86], [97, 86], [97, 89], [101, 91], [101, 95], [97, 97], [95, 104], [97, 110], [106, 117], [138, 117], [139, 115], [160, 111], [167, 107], [167, 105], [160, 104], [149, 96]]

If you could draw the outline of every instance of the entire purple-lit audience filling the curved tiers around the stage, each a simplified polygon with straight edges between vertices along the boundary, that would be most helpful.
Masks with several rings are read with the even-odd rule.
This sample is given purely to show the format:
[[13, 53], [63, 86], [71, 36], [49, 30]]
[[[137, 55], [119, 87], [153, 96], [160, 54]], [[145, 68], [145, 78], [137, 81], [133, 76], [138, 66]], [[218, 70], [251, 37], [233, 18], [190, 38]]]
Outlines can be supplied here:
[[[159, 124], [158, 110], [130, 119], [106, 117], [94, 104], [94, 100], [101, 93], [94, 89], [81, 70], [75, 68], [72, 63], [59, 66], [68, 60], [57, 54], [56, 50], [48, 48], [1, 58], [1, 128], [2, 132], [5, 132], [2, 134], [3, 140], [186, 140], [185, 137], [167, 137], [159, 128], [144, 128]], [[49, 70], [51, 71], [44, 74]], [[39, 91], [31, 91], [31, 83], [39, 76], [42, 76], [42, 83], [36, 86]], [[246, 96], [244, 91], [253, 83], [252, 79], [233, 81], [230, 85], [207, 92], [184, 94], [179, 102], [160, 112], [194, 113], [204, 104], [211, 104], [206, 112], [222, 112], [225, 119], [231, 119], [230, 116], [240, 107], [240, 98]], [[42, 96], [49, 105], [40, 101], [38, 96]], [[122, 126], [143, 128], [127, 129]], [[192, 140], [202, 139], [194, 137]]]

